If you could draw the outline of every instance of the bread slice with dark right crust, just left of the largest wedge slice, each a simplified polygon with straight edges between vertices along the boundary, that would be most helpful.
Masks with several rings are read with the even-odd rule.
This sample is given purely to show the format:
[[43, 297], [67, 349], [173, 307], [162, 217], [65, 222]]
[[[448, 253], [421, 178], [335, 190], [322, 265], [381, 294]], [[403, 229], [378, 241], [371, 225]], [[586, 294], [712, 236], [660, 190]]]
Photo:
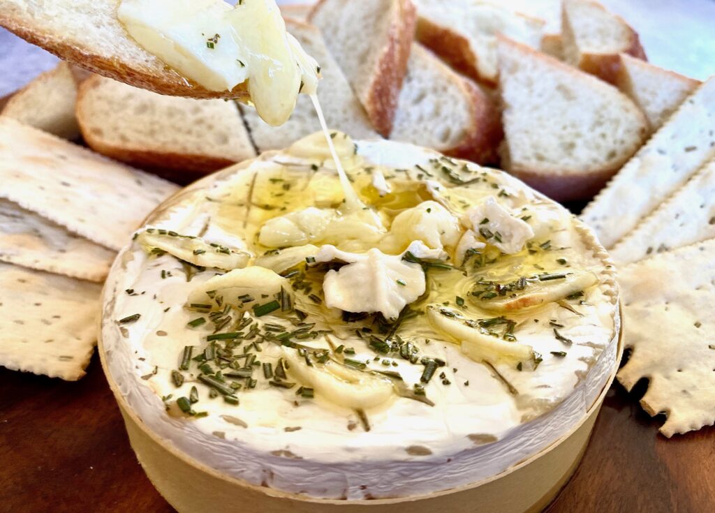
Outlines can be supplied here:
[[493, 99], [413, 43], [390, 139], [484, 164], [496, 160], [501, 137]]

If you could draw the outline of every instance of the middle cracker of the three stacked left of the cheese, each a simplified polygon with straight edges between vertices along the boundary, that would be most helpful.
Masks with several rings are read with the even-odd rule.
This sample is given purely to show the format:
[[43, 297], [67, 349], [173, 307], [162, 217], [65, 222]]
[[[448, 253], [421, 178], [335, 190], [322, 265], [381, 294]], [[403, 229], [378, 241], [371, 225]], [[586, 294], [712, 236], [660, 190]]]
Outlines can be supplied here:
[[0, 199], [0, 261], [104, 282], [116, 253]]

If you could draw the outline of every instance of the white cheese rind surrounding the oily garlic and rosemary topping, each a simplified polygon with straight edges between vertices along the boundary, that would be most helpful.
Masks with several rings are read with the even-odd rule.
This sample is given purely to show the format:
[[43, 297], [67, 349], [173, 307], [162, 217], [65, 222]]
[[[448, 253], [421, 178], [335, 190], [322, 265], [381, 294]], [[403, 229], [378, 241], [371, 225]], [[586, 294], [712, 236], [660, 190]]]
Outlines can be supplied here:
[[[380, 159], [396, 159], [395, 166], [405, 167], [415, 161], [427, 163], [435, 156], [402, 144], [358, 146], [375, 165]], [[504, 184], [524, 189], [509, 176], [490, 173]], [[526, 202], [544, 201], [524, 190], [531, 198]], [[189, 207], [178, 206], [157, 225], [167, 229], [193, 226], [186, 217], [195, 215]], [[571, 237], [573, 251], [583, 254], [584, 261], [593, 267], [603, 267], [598, 251], [589, 246], [588, 236], [578, 238], [583, 229], [567, 231], [561, 237]], [[176, 269], [172, 277], [158, 278], [159, 269], [172, 266]], [[554, 307], [540, 312], [538, 323], [523, 327], [520, 342], [528, 341], [545, 355], [544, 361], [533, 373], [517, 372], [513, 366], [498, 367], [523, 391], [523, 402], [515, 400], [486, 367], [460, 355], [455, 344], [440, 343], [433, 337], [429, 353], [448, 362], [444, 369], [452, 385], [430, 383], [428, 394], [435, 407], [410, 399], [391, 399], [385, 407], [370, 412], [373, 429], [369, 433], [359, 427], [348, 430], [342, 409], [318, 398], [301, 402], [296, 408], [292, 397], [275, 389], [244, 394], [239, 407], [209, 401], [202, 392], [199, 404], [209, 412], [208, 417], [169, 417], [161, 397], [186, 393], [174, 387], [170, 372], [176, 368], [179, 349], [199, 339], [197, 332], [184, 328], [195, 317], [183, 308], [187, 291], [210, 278], [210, 273], [199, 274], [187, 284], [180, 265], [171, 257], [150, 259], [137, 247], [125, 250], [115, 262], [105, 289], [107, 319], [102, 338], [109, 374], [129, 406], [159, 437], [220, 472], [285, 492], [347, 499], [409, 497], [493, 477], [568, 433], [591, 408], [615, 367], [618, 312], [613, 285], [604, 284], [594, 293], [592, 304], [579, 307], [586, 322]], [[139, 295], [126, 294], [129, 288]], [[157, 300], [152, 294], [140, 294], [144, 290], [155, 292]], [[567, 324], [561, 333], [573, 342], [566, 359], [548, 356], [563, 349], [549, 329], [543, 328], [557, 311]], [[142, 317], [134, 324], [124, 327], [115, 322], [137, 312], [142, 312]], [[269, 359], [270, 354], [264, 358]], [[152, 374], [155, 365], [157, 374]], [[453, 368], [458, 371], [453, 372]], [[399, 370], [405, 379], [418, 382], [417, 370], [402, 363]], [[533, 412], [534, 402], [550, 398], [554, 404], [546, 414]], [[247, 427], [222, 415], [241, 419]], [[301, 429], [285, 429], [297, 426]], [[496, 441], [478, 445], [490, 439]], [[415, 446], [426, 447], [431, 454], [410, 454], [408, 449]]]

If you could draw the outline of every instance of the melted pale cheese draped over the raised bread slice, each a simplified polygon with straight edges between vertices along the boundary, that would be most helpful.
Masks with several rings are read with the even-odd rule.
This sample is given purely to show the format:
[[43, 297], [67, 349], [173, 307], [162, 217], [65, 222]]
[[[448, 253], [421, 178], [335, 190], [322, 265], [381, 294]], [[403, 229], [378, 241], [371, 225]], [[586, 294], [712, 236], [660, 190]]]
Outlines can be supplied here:
[[273, 0], [122, 0], [117, 17], [144, 49], [211, 91], [247, 81], [256, 111], [283, 124], [300, 92], [315, 93], [318, 66], [287, 34]]

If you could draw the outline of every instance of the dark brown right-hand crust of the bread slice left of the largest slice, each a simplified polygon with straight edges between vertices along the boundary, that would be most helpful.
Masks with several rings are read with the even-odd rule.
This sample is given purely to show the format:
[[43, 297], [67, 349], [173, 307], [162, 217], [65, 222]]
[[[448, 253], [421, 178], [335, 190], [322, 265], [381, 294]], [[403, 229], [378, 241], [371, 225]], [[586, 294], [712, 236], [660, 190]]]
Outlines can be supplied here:
[[470, 97], [472, 129], [458, 146], [443, 153], [477, 164], [497, 164], [499, 144], [504, 137], [498, 104], [470, 79], [463, 77], [462, 81]]

